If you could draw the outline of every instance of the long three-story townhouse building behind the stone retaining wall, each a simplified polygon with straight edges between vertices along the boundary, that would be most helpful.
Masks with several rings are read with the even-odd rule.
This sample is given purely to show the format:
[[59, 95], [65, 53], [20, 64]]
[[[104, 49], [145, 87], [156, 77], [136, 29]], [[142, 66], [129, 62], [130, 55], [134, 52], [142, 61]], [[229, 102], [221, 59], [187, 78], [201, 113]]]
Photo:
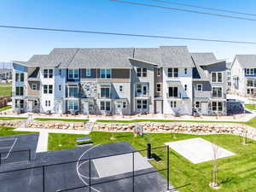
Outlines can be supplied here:
[[[193, 114], [194, 73], [202, 64], [192, 58], [186, 46], [53, 49], [49, 55], [14, 61], [13, 109], [106, 115]], [[225, 61], [222, 65], [219, 62], [208, 62], [200, 70], [209, 75], [221, 71]], [[212, 115], [212, 110], [205, 114]]]

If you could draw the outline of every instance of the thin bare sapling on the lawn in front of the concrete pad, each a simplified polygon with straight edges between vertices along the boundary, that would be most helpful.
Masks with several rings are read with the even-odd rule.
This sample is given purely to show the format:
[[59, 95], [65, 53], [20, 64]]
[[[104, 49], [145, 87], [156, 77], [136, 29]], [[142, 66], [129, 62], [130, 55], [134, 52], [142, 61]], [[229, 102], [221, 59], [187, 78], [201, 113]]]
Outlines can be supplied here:
[[212, 143], [212, 182], [210, 186], [218, 189], [218, 146]]

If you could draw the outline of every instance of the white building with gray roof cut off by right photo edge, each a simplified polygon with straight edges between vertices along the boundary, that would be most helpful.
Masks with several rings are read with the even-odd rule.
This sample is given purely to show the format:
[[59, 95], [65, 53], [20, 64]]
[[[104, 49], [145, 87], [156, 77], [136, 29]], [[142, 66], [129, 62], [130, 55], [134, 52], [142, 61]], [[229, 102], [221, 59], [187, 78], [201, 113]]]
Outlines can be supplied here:
[[256, 96], [256, 55], [236, 55], [232, 66], [231, 91], [240, 96]]

